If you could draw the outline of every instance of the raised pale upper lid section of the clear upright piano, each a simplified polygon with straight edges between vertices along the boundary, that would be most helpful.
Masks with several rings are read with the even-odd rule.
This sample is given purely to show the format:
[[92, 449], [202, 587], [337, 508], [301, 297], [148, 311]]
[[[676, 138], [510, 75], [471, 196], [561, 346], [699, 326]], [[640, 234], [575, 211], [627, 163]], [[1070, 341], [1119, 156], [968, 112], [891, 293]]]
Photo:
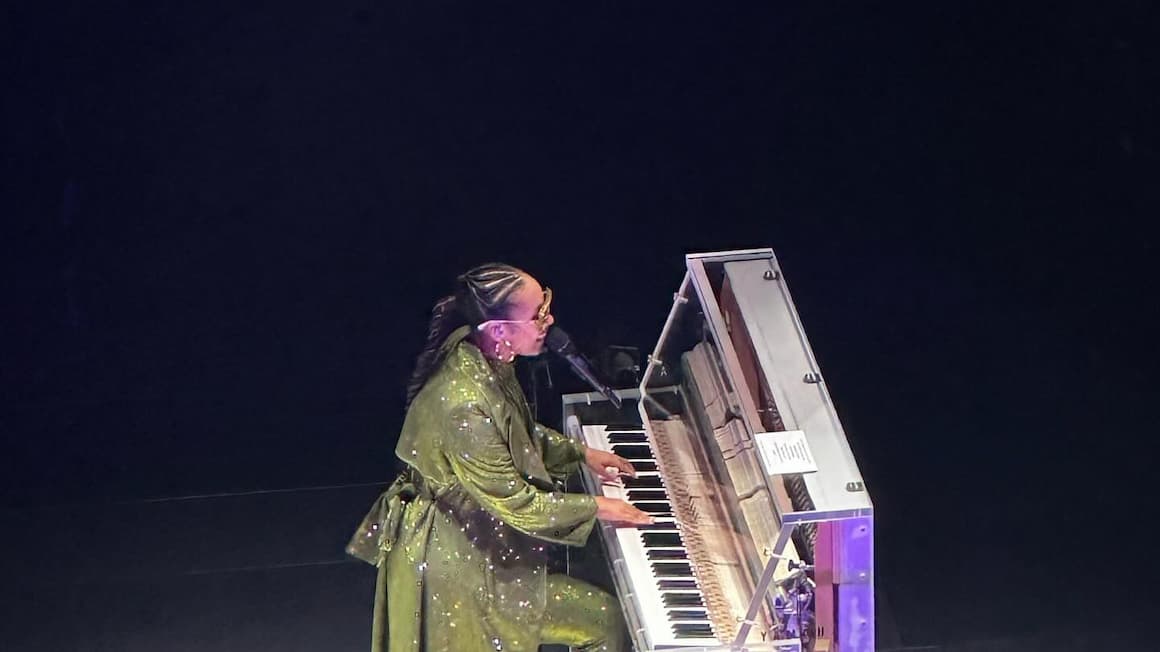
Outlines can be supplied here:
[[[788, 522], [872, 514], [862, 473], [802, 328], [771, 249], [690, 254], [687, 273], [640, 383], [641, 418], [693, 410], [744, 425], [742, 439], [802, 430], [817, 472], [802, 473], [807, 497], [786, 498], [778, 476], [764, 480]], [[688, 355], [705, 342], [724, 386], [688, 391]], [[702, 347], [704, 348], [704, 347]], [[702, 362], [702, 364], [704, 364]], [[754, 443], [755, 445], [755, 443]], [[792, 493], [792, 491], [791, 491]], [[796, 504], [796, 506], [795, 506]]]

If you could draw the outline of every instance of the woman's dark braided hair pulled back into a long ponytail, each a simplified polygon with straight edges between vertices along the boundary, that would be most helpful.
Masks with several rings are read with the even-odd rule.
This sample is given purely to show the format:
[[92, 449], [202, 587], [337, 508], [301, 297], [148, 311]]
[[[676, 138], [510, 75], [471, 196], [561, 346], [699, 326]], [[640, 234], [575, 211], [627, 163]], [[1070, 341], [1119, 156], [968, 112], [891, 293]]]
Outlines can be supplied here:
[[427, 342], [407, 383], [407, 405], [442, 362], [440, 347], [459, 326], [478, 326], [488, 319], [507, 317], [512, 296], [523, 285], [525, 274], [510, 265], [488, 262], [473, 267], [456, 278], [455, 294], [441, 298], [432, 309]]

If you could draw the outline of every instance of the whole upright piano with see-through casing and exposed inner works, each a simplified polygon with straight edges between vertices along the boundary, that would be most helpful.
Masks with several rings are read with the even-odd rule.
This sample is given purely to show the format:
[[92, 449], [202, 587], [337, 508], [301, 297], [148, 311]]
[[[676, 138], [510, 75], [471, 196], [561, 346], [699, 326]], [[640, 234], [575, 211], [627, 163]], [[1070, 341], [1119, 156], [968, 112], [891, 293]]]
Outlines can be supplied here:
[[587, 491], [638, 652], [872, 652], [873, 508], [770, 249], [686, 256], [639, 387], [564, 397], [565, 429], [632, 461]]

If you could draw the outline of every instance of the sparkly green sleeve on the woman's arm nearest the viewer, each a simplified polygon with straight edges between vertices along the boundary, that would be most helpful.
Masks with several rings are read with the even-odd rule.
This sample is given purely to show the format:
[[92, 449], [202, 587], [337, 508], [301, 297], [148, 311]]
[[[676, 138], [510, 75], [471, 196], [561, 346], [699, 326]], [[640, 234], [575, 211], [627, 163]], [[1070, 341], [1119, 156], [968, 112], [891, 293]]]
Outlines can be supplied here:
[[539, 490], [516, 471], [501, 428], [479, 404], [451, 411], [456, 435], [444, 455], [466, 492], [508, 526], [553, 543], [583, 545], [596, 501], [586, 494]]

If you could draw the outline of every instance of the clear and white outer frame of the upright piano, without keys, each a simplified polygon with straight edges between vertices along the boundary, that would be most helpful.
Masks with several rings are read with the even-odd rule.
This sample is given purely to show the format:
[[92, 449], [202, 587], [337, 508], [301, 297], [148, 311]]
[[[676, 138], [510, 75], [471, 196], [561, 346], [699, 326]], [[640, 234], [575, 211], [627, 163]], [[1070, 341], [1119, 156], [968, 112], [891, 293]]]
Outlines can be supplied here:
[[[781, 266], [773, 249], [760, 248], [689, 254], [686, 256], [686, 267], [681, 288], [674, 295], [673, 306], [648, 358], [640, 385], [636, 390], [617, 391], [622, 400], [626, 399], [622, 410], [631, 410], [630, 401], [635, 401], [639, 419], [652, 436], [647, 413], [647, 404], [652, 400], [650, 394], [674, 391], [652, 382], [653, 374], [662, 361], [662, 348], [681, 316], [683, 304], [691, 298], [690, 292], [695, 292], [720, 354], [724, 374], [731, 385], [738, 389], [734, 396], [740, 405], [733, 407], [744, 420], [751, 437], [764, 432], [754, 394], [748, 391], [738, 352], [730, 339], [725, 316], [710, 280], [711, 274], [724, 274], [732, 283], [737, 307], [745, 319], [753, 343], [759, 372], [773, 394], [782, 423], [786, 430], [804, 433], [818, 472], [800, 476], [812, 501], [810, 509], [795, 509], [785, 499], [784, 491], [771, 491], [774, 497], [781, 497], [775, 500], [781, 529], [775, 541], [754, 542], [764, 548], [769, 562], [764, 565], [749, 601], [746, 620], [732, 644], [682, 650], [790, 650], [784, 645], [786, 642], [768, 642], [755, 646], [753, 643], [745, 644], [745, 640], [767, 601], [778, 562], [793, 530], [805, 523], [817, 523], [819, 529], [814, 550], [814, 579], [818, 582], [815, 614], [820, 631], [815, 632], [815, 640], [826, 642], [828, 647], [817, 646], [815, 652], [873, 652], [873, 506], [790, 298]], [[610, 403], [600, 405], [603, 403], [608, 403], [607, 399], [594, 392], [564, 396], [565, 429], [574, 435], [575, 426], [581, 422], [592, 423], [596, 412], [611, 414], [610, 411], [615, 408]], [[622, 415], [621, 421], [623, 420]], [[590, 481], [590, 478], [586, 478], [586, 485]], [[781, 478], [767, 474], [766, 481], [773, 487]], [[592, 486], [588, 488], [590, 491]], [[615, 537], [614, 530], [601, 524], [606, 543], [609, 536]], [[626, 584], [623, 579], [626, 573], [615, 572], [615, 565], [623, 564], [623, 560], [610, 559], [610, 563], [614, 565], [612, 579], [622, 600], [631, 600], [631, 587], [622, 586]], [[638, 652], [645, 652], [646, 649], [640, 645], [647, 645], [647, 638], [640, 631], [640, 624], [636, 622], [632, 611], [633, 609], [625, 608], [625, 617]], [[827, 623], [833, 623], [834, 631], [825, 631]]]

